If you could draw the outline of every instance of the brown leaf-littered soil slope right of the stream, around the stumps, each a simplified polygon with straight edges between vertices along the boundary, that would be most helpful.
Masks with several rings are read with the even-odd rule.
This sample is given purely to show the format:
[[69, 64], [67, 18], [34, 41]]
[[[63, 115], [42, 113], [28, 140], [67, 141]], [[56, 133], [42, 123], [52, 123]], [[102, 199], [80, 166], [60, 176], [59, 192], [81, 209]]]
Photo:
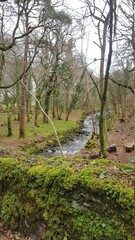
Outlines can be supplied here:
[[[108, 146], [116, 144], [117, 151], [108, 153], [107, 159], [113, 160], [119, 163], [130, 163], [133, 158], [135, 158], [135, 151], [126, 152], [125, 144], [135, 142], [135, 119], [131, 118], [129, 121], [122, 123], [117, 123], [108, 133]], [[99, 146], [99, 143], [97, 143]], [[79, 153], [81, 157], [94, 158], [98, 156], [99, 151], [90, 152], [88, 150], [83, 150]]]

